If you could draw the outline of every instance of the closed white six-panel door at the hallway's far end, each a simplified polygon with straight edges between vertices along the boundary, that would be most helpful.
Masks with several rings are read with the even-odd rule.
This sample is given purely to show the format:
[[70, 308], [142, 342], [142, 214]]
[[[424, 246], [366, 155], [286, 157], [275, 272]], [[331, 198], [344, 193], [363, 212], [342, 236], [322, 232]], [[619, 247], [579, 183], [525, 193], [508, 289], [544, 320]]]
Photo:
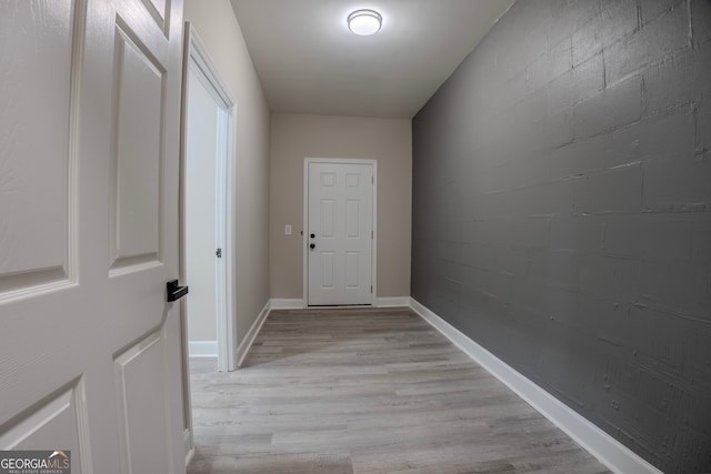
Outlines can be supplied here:
[[374, 164], [307, 167], [308, 304], [370, 304]]

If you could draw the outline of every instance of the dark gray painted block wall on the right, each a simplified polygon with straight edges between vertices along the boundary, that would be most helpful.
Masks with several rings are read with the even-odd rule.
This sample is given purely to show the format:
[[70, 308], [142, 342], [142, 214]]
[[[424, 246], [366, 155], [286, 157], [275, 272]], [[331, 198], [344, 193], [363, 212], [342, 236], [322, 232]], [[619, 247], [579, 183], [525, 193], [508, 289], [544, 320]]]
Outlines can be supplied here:
[[412, 127], [413, 297], [711, 472], [711, 1], [519, 0]]

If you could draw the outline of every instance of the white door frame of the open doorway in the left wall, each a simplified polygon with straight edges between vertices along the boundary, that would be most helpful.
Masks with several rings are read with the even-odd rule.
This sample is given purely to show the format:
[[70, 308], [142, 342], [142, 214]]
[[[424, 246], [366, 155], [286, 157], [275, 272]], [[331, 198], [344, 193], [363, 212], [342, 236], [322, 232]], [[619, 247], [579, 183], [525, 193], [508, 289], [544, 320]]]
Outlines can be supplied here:
[[[237, 321], [234, 309], [234, 280], [237, 270], [237, 255], [234, 245], [234, 189], [233, 189], [233, 171], [234, 171], [234, 150], [236, 137], [234, 124], [237, 122], [237, 101], [232, 98], [229, 89], [217, 73], [214, 62], [210, 59], [207, 48], [203, 46], [196, 29], [189, 21], [184, 22], [184, 43], [183, 43], [183, 69], [182, 69], [182, 110], [180, 118], [180, 279], [186, 279], [186, 169], [187, 169], [187, 104], [189, 88], [189, 70], [191, 61], [200, 69], [214, 89], [221, 101], [223, 102], [226, 114], [226, 140], [218, 143], [221, 149], [219, 155], [224, 160], [216, 162], [216, 167], [220, 169], [219, 179], [216, 181], [218, 186], [218, 195], [223, 200], [216, 199], [216, 213], [218, 214], [218, 226], [216, 230], [218, 241], [222, 242], [222, 262], [218, 266], [218, 282], [216, 303], [218, 307], [217, 316], [217, 342], [218, 342], [218, 371], [228, 372], [237, 369]], [[189, 283], [188, 283], [189, 284]], [[191, 456], [192, 443], [192, 410], [190, 399], [190, 370], [189, 370], [189, 340], [188, 340], [188, 310], [184, 300], [181, 302], [181, 324], [183, 334], [183, 403], [186, 413], [186, 453]]]

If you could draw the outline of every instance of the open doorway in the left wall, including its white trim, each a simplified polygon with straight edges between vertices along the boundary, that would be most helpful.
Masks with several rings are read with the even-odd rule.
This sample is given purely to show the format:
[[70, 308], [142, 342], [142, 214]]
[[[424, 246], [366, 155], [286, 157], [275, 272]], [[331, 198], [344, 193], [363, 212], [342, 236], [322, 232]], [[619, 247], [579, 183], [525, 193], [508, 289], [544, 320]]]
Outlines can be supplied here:
[[231, 175], [236, 105], [197, 33], [186, 26], [182, 272], [188, 353], [237, 369], [231, 271]]

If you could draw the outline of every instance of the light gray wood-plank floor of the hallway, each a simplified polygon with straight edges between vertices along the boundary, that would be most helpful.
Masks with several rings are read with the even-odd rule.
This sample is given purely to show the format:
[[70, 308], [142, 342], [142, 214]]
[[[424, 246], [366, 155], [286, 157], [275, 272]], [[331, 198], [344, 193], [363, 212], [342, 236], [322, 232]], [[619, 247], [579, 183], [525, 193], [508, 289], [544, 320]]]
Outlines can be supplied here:
[[214, 367], [191, 360], [191, 474], [608, 473], [409, 309], [273, 311]]

